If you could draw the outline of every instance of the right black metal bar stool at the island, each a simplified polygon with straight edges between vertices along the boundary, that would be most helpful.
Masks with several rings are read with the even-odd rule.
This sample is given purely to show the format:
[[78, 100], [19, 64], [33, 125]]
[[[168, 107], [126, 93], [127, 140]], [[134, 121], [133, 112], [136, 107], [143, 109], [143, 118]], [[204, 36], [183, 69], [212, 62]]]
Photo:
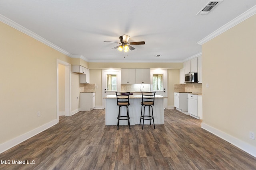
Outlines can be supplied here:
[[[150, 125], [151, 125], [151, 120], [153, 120], [154, 129], [156, 129], [155, 122], [154, 122], [154, 115], [153, 115], [153, 107], [152, 107], [154, 106], [156, 92], [141, 92], [141, 94], [142, 94], [142, 102], [140, 104], [142, 106], [141, 106], [141, 113], [140, 113], [140, 123], [141, 123], [141, 119], [143, 119], [142, 129], [144, 126], [144, 120], [150, 120]], [[143, 106], [144, 106], [144, 112], [142, 115]], [[145, 115], [146, 106], [149, 107], [149, 115]], [[152, 110], [152, 115], [150, 114], [150, 108]]]

